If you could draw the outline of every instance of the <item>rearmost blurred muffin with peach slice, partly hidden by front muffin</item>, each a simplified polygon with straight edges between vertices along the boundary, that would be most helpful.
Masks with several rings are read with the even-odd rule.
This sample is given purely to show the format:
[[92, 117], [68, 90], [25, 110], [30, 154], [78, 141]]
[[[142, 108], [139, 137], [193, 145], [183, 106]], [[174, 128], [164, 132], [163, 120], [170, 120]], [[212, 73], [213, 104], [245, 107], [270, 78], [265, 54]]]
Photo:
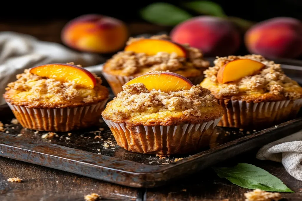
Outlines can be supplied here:
[[104, 64], [103, 74], [115, 95], [134, 77], [148, 71], [170, 71], [187, 77], [193, 84], [204, 78], [209, 67], [199, 49], [179, 45], [167, 35], [130, 38], [122, 52], [118, 52]]

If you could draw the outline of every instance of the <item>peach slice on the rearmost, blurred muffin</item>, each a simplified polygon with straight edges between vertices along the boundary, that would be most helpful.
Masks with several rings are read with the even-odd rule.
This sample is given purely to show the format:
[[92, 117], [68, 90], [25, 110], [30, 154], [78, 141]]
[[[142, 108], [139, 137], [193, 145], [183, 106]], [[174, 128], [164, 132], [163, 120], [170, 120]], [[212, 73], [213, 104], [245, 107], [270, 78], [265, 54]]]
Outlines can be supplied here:
[[175, 52], [180, 57], [186, 57], [186, 50], [181, 45], [168, 40], [160, 39], [141, 39], [132, 42], [125, 47], [125, 51], [136, 53], [146, 53], [147, 55], [156, 55], [158, 52]]

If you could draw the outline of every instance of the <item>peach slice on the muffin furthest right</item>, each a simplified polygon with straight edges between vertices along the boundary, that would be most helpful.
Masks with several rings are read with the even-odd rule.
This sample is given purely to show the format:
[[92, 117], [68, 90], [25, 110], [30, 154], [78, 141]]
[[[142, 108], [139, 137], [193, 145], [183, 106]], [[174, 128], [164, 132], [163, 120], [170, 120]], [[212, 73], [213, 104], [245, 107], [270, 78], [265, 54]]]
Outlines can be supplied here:
[[237, 59], [225, 64], [217, 73], [217, 81], [221, 84], [250, 76], [265, 67], [252, 59]]

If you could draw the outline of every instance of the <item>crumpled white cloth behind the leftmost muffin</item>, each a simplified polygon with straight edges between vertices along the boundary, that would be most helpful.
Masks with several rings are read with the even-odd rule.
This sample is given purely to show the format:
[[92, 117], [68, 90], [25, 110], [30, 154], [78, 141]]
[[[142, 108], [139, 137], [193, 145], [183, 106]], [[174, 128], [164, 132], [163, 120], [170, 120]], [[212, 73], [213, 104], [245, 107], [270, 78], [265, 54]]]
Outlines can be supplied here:
[[0, 32], [0, 49], [0, 105], [5, 104], [2, 94], [6, 85], [16, 80], [16, 74], [24, 69], [67, 62], [85, 67], [102, 61], [96, 54], [79, 53], [58, 43], [39, 41], [14, 32]]

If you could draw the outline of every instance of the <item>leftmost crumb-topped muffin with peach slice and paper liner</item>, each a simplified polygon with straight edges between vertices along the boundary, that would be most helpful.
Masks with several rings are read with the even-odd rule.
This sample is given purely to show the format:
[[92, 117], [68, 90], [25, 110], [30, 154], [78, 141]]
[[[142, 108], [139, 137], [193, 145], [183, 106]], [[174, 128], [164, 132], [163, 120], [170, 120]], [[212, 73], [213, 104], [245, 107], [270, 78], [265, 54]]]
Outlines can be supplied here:
[[16, 77], [4, 98], [25, 128], [69, 131], [91, 126], [108, 100], [102, 80], [73, 63], [38, 66]]

